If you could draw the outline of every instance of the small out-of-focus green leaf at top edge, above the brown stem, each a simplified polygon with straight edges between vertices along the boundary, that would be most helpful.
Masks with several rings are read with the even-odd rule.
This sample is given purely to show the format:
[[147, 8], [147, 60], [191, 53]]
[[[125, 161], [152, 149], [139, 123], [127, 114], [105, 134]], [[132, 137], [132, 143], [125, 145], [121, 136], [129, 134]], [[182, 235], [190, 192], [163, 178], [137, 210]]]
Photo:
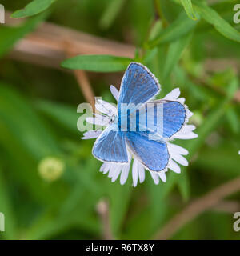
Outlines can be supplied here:
[[106, 30], [113, 24], [114, 19], [122, 10], [122, 7], [125, 2], [126, 0], [112, 0], [108, 4], [99, 22], [99, 25], [102, 27], [102, 29]]

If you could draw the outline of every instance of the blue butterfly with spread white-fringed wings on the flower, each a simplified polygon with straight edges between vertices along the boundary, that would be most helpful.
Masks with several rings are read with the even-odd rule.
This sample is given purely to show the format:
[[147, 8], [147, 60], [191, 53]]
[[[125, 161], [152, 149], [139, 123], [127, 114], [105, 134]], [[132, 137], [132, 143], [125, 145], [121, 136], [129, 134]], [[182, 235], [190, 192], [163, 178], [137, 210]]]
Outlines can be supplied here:
[[[160, 85], [154, 74], [138, 62], [131, 62], [128, 66], [121, 83], [118, 98], [118, 116], [110, 126], [102, 132], [94, 143], [93, 151], [95, 158], [102, 162], [126, 163], [130, 161], [128, 150], [134, 154], [135, 158], [142, 163], [146, 169], [151, 171], [161, 171], [166, 169], [170, 161], [170, 154], [166, 142], [178, 132], [186, 122], [186, 108], [180, 102], [170, 100], [151, 101], [160, 92]], [[127, 114], [122, 114], [122, 105], [147, 106], [151, 102], [154, 120], [151, 124], [146, 122], [146, 130], [142, 131], [138, 125], [141, 116], [137, 113], [136, 130], [131, 130], [129, 125], [131, 109]], [[158, 131], [152, 129], [157, 125], [158, 103], [163, 108], [162, 117], [162, 137]], [[146, 112], [149, 110], [146, 107]], [[145, 117], [144, 117], [145, 118]], [[120, 123], [126, 122], [125, 130], [121, 129]], [[159, 139], [150, 139], [150, 135], [155, 135]]]

